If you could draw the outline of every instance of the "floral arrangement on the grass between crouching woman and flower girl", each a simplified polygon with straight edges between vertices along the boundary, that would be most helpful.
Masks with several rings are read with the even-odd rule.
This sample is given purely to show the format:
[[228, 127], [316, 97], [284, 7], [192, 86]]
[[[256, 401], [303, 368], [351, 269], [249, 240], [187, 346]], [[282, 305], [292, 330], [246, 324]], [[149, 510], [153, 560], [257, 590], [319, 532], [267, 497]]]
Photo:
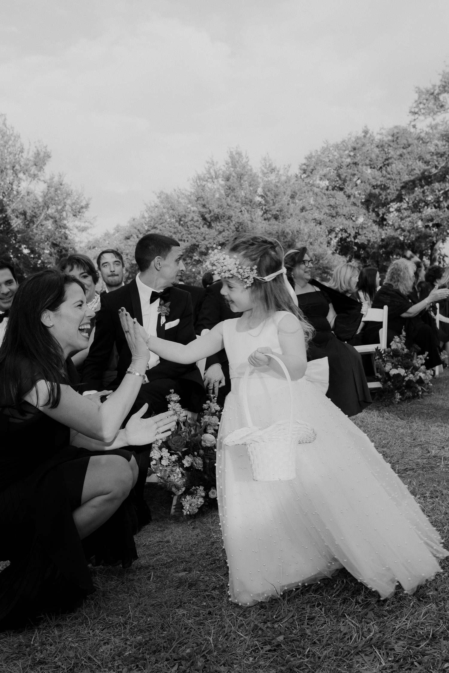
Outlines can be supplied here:
[[192, 420], [173, 390], [167, 400], [177, 423], [170, 437], [153, 441], [150, 470], [168, 491], [180, 496], [182, 513], [192, 515], [217, 498], [215, 454], [221, 408], [217, 398], [210, 396], [203, 413]]

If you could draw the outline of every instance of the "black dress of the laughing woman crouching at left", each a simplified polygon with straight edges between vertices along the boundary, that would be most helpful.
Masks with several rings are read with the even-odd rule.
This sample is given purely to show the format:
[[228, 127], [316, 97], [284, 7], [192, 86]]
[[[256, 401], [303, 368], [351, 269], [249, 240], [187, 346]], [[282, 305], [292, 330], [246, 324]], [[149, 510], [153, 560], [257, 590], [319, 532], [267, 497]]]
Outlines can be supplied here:
[[[67, 369], [73, 373], [73, 364]], [[32, 404], [17, 409], [0, 400], [0, 561], [9, 561], [0, 573], [2, 630], [81, 604], [94, 592], [89, 562], [137, 559], [129, 498], [82, 542], [72, 516], [90, 458], [106, 453], [131, 460], [132, 454], [89, 451], [69, 441], [69, 428]]]

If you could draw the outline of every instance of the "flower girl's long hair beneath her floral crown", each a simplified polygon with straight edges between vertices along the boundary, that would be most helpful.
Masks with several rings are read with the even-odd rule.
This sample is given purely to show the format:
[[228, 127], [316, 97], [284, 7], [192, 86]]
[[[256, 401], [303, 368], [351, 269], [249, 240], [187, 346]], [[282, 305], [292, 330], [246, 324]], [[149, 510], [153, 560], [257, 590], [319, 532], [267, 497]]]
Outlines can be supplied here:
[[[240, 258], [244, 266], [257, 268], [257, 275], [262, 278], [279, 271], [283, 267], [283, 250], [279, 241], [268, 236], [238, 236], [228, 246], [228, 252]], [[279, 274], [267, 283], [254, 279], [250, 285], [250, 291], [254, 304], [260, 307], [266, 316], [271, 316], [276, 311], [288, 311], [300, 320], [304, 330], [306, 344], [312, 339], [314, 328], [304, 318], [302, 310], [293, 302], [289, 294], [283, 274]]]

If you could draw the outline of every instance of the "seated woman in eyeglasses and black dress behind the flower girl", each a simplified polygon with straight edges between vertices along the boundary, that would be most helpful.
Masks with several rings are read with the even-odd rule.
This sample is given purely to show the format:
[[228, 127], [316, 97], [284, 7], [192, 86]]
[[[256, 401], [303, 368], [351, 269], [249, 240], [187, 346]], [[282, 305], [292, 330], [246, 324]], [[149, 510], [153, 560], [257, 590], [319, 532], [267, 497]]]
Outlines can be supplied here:
[[306, 246], [285, 258], [285, 267], [295, 283], [298, 304], [316, 333], [309, 345], [308, 359], [327, 357], [329, 389], [327, 396], [347, 416], [355, 416], [372, 402], [359, 353], [337, 339], [333, 324], [337, 316], [329, 295], [312, 280], [313, 260]]

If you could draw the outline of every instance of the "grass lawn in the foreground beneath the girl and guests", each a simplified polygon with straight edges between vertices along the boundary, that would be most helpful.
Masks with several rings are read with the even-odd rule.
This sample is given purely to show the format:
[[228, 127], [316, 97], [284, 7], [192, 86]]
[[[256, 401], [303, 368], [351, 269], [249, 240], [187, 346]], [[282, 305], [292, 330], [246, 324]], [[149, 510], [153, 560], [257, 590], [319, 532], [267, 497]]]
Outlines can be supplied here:
[[[449, 548], [449, 374], [423, 400], [373, 404], [356, 419]], [[449, 561], [414, 596], [380, 601], [346, 571], [242, 608], [226, 594], [217, 511], [154, 521], [127, 571], [94, 569], [98, 591], [75, 614], [0, 634], [1, 672], [151, 673], [449, 671]]]

